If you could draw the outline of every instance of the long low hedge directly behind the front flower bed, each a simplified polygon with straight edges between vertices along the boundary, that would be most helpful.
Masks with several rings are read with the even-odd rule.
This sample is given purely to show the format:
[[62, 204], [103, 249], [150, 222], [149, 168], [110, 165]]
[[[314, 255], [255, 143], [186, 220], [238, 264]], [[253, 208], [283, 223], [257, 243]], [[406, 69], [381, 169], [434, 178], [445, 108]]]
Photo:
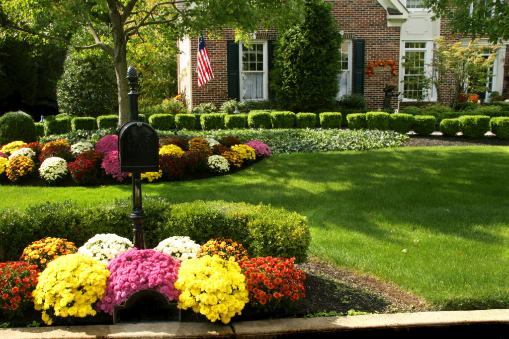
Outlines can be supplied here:
[[[194, 201], [172, 204], [162, 198], [145, 197], [146, 247], [162, 239], [182, 235], [198, 243], [215, 237], [244, 244], [251, 257], [306, 259], [310, 242], [306, 217], [282, 208], [225, 201]], [[0, 262], [19, 259], [25, 246], [47, 236], [66, 238], [81, 246], [99, 233], [132, 238], [128, 216], [130, 199], [79, 207], [76, 203], [45, 203], [3, 211], [0, 219]], [[27, 237], [28, 235], [28, 237]]]

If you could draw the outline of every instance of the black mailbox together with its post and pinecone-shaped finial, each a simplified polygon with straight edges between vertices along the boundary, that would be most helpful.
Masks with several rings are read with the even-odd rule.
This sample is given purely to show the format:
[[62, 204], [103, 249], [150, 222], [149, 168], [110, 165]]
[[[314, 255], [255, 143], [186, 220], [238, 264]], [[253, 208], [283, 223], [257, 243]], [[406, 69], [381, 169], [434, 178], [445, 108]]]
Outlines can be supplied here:
[[130, 172], [132, 178], [132, 211], [129, 215], [134, 233], [134, 246], [145, 249], [144, 221], [147, 214], [142, 207], [142, 172], [159, 171], [159, 139], [152, 126], [138, 119], [138, 95], [136, 69], [127, 71], [131, 91], [129, 93], [129, 118], [119, 131], [119, 162], [121, 172]]

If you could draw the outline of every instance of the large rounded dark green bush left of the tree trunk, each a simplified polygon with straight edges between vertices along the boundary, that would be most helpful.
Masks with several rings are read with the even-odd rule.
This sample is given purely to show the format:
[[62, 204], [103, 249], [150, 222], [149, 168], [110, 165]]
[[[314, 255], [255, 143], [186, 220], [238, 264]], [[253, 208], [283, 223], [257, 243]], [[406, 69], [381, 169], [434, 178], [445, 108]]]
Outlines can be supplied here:
[[115, 70], [106, 54], [69, 50], [56, 86], [61, 112], [93, 117], [118, 114], [117, 93]]

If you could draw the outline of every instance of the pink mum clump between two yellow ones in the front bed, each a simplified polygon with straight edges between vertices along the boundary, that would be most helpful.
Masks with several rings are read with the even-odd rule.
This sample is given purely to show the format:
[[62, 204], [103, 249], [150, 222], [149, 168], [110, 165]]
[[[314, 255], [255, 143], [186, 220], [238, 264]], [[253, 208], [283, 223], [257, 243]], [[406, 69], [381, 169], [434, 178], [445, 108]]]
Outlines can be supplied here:
[[174, 287], [180, 263], [171, 256], [154, 250], [136, 248], [111, 260], [111, 272], [104, 299], [96, 305], [97, 311], [113, 314], [113, 306], [120, 305], [131, 295], [146, 289], [155, 289], [168, 300], [176, 300], [179, 291]]

